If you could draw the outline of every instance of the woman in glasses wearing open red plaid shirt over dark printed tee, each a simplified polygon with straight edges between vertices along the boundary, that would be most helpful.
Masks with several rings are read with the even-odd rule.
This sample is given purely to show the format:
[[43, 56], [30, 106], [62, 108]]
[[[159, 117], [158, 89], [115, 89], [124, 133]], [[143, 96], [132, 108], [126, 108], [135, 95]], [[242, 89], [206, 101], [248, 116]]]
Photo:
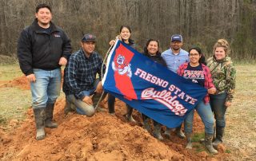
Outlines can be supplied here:
[[[213, 80], [211, 78], [210, 69], [206, 66], [205, 57], [202, 54], [201, 49], [198, 47], [191, 48], [189, 50], [190, 62], [186, 62], [179, 66], [178, 75], [186, 78], [187, 80], [198, 84], [208, 90], [205, 98], [200, 101], [195, 107], [198, 115], [201, 117], [203, 124], [205, 125], [205, 146], [212, 154], [218, 154], [212, 144], [214, 135], [214, 116], [210, 108], [209, 94], [214, 94], [216, 88], [214, 87]], [[192, 132], [193, 132], [193, 120], [194, 110], [191, 110], [184, 121], [184, 129], [186, 139], [188, 141], [186, 148], [192, 148]]]

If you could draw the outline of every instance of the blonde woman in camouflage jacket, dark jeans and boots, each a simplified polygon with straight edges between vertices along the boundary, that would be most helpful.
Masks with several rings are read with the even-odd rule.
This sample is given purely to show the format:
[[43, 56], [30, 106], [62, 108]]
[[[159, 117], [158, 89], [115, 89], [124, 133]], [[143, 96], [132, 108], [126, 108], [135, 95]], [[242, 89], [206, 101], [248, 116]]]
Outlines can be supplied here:
[[219, 39], [214, 45], [214, 56], [207, 60], [207, 66], [210, 68], [214, 85], [217, 88], [217, 92], [210, 95], [210, 106], [216, 120], [214, 147], [218, 147], [218, 144], [222, 143], [226, 126], [226, 108], [231, 105], [234, 97], [236, 70], [230, 57], [228, 57], [229, 53], [229, 43], [225, 39]]

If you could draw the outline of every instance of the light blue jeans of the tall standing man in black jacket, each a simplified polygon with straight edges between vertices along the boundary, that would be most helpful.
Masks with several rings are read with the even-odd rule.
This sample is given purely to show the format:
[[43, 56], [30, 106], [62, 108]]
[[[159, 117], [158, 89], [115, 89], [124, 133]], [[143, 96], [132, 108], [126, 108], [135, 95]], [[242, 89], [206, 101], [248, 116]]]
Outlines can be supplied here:
[[54, 104], [61, 91], [61, 69], [33, 69], [36, 78], [30, 82], [32, 92], [32, 108], [46, 108], [46, 104]]

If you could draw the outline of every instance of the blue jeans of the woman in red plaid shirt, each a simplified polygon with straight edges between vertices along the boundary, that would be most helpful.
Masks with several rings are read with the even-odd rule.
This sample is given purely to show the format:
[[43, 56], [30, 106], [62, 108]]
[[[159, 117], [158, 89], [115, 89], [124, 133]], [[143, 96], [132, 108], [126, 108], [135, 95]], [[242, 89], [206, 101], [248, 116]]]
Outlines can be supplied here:
[[[205, 125], [205, 132], [207, 134], [214, 135], [214, 115], [211, 111], [210, 104], [205, 104], [202, 100], [198, 103], [195, 109], [197, 110], [198, 115], [201, 117], [202, 123]], [[184, 129], [186, 133], [192, 133], [193, 120], [194, 110], [191, 110], [184, 121]]]

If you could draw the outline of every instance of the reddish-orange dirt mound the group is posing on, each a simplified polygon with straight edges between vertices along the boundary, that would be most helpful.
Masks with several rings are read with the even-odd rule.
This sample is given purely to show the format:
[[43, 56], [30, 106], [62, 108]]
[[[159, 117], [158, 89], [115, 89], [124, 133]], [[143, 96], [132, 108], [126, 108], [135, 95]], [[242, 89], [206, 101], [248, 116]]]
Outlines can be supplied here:
[[[11, 82], [25, 89], [25, 80], [26, 77], [20, 77]], [[101, 105], [106, 108], [106, 100]], [[115, 116], [108, 112], [97, 112], [92, 117], [70, 112], [65, 116], [64, 106], [62, 99], [55, 104], [58, 128], [46, 128], [46, 139], [35, 139], [31, 108], [18, 128], [4, 132], [0, 127], [0, 160], [228, 160], [225, 151], [209, 155], [205, 151], [186, 150], [186, 140], [174, 132], [171, 139], [155, 139], [142, 128], [139, 112], [134, 112], [137, 124], [126, 121], [126, 106], [120, 100], [116, 100]], [[194, 132], [203, 131], [196, 114]]]

